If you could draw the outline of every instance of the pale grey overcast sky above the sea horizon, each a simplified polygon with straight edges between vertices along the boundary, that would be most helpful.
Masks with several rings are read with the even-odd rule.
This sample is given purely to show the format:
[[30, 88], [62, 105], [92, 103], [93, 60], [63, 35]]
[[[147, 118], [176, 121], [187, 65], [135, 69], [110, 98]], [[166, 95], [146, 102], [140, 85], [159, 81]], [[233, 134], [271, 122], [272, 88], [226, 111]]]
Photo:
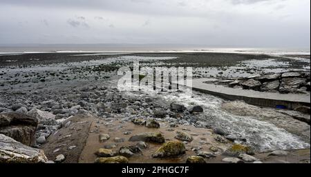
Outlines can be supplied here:
[[0, 43], [310, 48], [310, 0], [0, 0]]

